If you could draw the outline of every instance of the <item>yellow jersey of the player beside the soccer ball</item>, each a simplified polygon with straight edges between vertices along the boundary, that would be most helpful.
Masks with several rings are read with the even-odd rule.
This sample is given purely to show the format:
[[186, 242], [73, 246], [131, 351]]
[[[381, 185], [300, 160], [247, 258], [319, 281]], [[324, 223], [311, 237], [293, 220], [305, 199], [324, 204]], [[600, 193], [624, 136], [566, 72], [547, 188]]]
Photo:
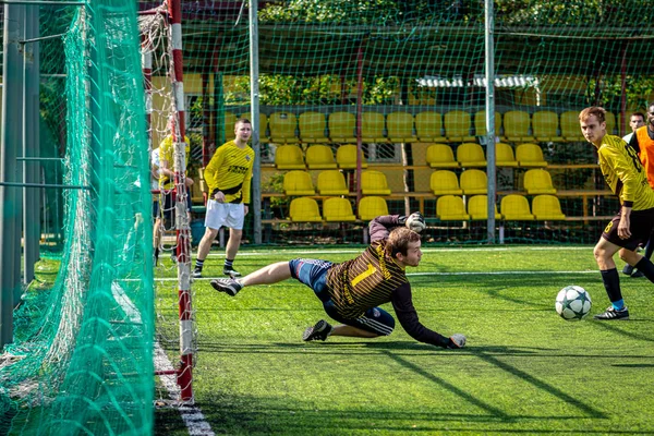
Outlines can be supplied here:
[[635, 149], [618, 136], [605, 135], [597, 155], [602, 174], [621, 205], [633, 210], [654, 207], [654, 191]]

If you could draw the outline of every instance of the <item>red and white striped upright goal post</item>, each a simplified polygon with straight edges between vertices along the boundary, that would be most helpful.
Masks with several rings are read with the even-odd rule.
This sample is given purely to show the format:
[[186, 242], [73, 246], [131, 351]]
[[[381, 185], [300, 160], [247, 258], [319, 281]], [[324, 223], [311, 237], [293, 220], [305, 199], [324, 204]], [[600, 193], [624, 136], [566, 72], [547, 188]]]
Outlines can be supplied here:
[[[191, 230], [186, 218], [186, 145], [184, 123], [184, 83], [182, 58], [182, 5], [181, 0], [168, 0], [172, 39], [172, 97], [177, 112], [177, 125], [172, 128], [174, 143], [174, 185], [178, 284], [180, 306], [180, 367], [178, 385], [181, 400], [193, 400], [193, 312], [191, 304]], [[179, 129], [179, 130], [178, 130]]]

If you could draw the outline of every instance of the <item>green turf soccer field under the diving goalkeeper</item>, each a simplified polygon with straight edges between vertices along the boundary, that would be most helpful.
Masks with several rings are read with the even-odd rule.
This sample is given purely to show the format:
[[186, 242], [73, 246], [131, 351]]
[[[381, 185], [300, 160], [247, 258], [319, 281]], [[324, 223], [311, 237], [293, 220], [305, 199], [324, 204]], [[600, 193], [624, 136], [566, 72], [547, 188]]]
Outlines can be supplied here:
[[[237, 266], [361, 250], [244, 249]], [[631, 319], [591, 319], [608, 305], [591, 246], [425, 247], [408, 270], [414, 305], [425, 326], [464, 334], [463, 350], [415, 342], [399, 324], [378, 339], [303, 342], [326, 316], [308, 288], [289, 280], [229, 298], [208, 282], [221, 264], [213, 254], [194, 282], [195, 399], [216, 434], [654, 434], [654, 284], [621, 275]], [[582, 322], [554, 310], [567, 284], [593, 298]], [[158, 330], [173, 337], [177, 293], [158, 295]], [[165, 347], [175, 362], [175, 343]], [[164, 408], [156, 434], [189, 431]]]

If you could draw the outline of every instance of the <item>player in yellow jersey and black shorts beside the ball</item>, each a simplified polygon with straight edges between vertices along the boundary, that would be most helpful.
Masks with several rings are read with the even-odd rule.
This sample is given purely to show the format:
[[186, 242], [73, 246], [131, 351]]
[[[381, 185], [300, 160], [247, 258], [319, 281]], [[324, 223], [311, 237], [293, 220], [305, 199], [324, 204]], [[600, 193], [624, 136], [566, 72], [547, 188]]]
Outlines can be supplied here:
[[597, 148], [600, 169], [610, 190], [620, 199], [620, 210], [606, 226], [593, 254], [611, 305], [595, 319], [629, 319], [622, 300], [620, 277], [614, 255], [642, 271], [654, 282], [654, 265], [635, 252], [646, 243], [654, 228], [654, 191], [638, 154], [622, 138], [606, 134], [606, 111], [585, 108], [579, 114], [581, 132]]

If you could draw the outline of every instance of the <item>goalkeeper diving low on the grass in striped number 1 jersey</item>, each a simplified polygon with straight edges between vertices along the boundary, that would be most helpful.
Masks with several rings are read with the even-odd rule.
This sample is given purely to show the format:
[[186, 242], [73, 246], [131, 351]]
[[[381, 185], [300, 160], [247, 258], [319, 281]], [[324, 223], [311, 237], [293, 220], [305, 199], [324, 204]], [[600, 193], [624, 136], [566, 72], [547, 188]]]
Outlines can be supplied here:
[[370, 222], [371, 245], [354, 259], [334, 264], [295, 258], [268, 265], [242, 279], [211, 280], [211, 286], [234, 296], [245, 287], [272, 284], [290, 278], [306, 284], [322, 301], [327, 315], [341, 324], [331, 326], [320, 319], [304, 331], [305, 341], [324, 341], [329, 336], [388, 336], [395, 328], [395, 319], [378, 306], [390, 302], [400, 324], [413, 339], [443, 348], [462, 348], [465, 346], [463, 335], [448, 338], [429, 330], [420, 323], [413, 307], [404, 269], [420, 264], [422, 251], [416, 231], [424, 229], [424, 222], [420, 213], [409, 218], [377, 217]]

